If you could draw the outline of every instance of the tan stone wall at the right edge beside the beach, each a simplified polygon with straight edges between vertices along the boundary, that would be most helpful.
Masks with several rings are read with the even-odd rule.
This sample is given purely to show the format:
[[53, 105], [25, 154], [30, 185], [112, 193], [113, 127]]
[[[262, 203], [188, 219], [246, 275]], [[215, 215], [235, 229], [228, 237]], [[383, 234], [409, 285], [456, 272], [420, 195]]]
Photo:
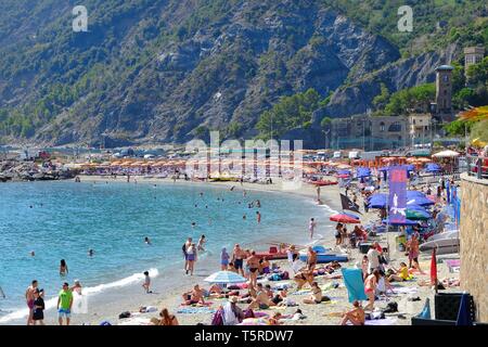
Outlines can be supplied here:
[[488, 180], [461, 179], [461, 288], [474, 296], [477, 320], [488, 322]]

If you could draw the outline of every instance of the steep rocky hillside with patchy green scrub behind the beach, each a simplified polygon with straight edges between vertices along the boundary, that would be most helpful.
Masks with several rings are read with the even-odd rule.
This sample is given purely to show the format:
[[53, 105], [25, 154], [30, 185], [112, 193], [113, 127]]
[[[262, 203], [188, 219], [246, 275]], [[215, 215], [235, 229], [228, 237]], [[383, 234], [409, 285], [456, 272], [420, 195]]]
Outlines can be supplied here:
[[423, 25], [401, 35], [397, 2], [86, 0], [89, 31], [73, 33], [75, 1], [3, 0], [0, 136], [55, 145], [98, 144], [102, 133], [113, 145], [214, 129], [254, 137], [281, 97], [332, 92], [317, 125], [363, 112], [380, 82], [394, 92], [432, 81], [463, 44], [487, 46], [479, 1], [431, 1], [439, 5], [424, 16], [428, 1], [407, 1]]

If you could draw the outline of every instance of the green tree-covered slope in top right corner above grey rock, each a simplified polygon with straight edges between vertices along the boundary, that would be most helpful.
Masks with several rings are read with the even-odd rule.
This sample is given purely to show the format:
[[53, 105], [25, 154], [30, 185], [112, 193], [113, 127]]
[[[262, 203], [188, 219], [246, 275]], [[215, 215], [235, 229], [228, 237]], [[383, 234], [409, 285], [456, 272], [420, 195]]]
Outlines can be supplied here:
[[[479, 0], [323, 0], [331, 8], [397, 44], [403, 56], [447, 44], [488, 47], [486, 3]], [[398, 30], [398, 9], [413, 10], [413, 30]]]

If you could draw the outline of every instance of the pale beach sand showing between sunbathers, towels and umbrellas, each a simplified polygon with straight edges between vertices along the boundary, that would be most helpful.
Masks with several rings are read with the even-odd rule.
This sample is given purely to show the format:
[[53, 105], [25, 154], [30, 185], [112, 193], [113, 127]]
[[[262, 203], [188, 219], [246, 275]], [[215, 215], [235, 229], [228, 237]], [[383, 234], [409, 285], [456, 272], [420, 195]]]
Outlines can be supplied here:
[[[106, 177], [93, 177], [93, 176], [85, 176], [80, 177], [81, 181], [114, 181], [112, 178]], [[296, 190], [293, 191], [283, 191], [283, 187], [281, 184], [281, 181], [275, 181], [273, 184], [257, 184], [257, 183], [241, 183], [239, 182], [192, 182], [192, 181], [176, 181], [172, 182], [170, 179], [156, 179], [156, 178], [142, 178], [142, 177], [131, 177], [131, 180], [136, 179], [138, 183], [157, 183], [162, 182], [164, 184], [194, 184], [195, 187], [200, 184], [209, 185], [209, 187], [221, 187], [224, 189], [229, 189], [232, 185], [235, 185], [235, 189], [239, 190], [259, 190], [259, 191], [267, 191], [267, 192], [280, 192], [280, 193], [286, 193], [286, 194], [294, 194], [299, 195], [301, 197], [310, 198], [317, 201], [317, 189], [316, 187], [307, 183], [303, 183], [301, 187], [299, 187]], [[117, 181], [125, 181], [125, 177], [118, 177]], [[328, 210], [330, 213], [341, 210], [341, 200], [339, 200], [339, 188], [337, 185], [329, 185], [329, 187], [322, 187], [321, 188], [321, 200], [322, 203], [329, 206]], [[361, 201], [358, 202], [360, 205], [362, 205]], [[361, 216], [361, 221], [363, 224], [367, 224], [373, 220], [376, 220], [378, 218], [377, 214], [373, 210], [368, 214], [363, 214]], [[321, 224], [318, 226], [318, 233], [321, 233], [324, 235], [324, 239], [318, 240], [318, 244], [322, 244], [325, 246], [333, 246], [335, 241], [333, 240], [333, 234], [321, 232]], [[300, 231], [303, 232], [303, 231]], [[400, 253], [396, 249], [395, 246], [395, 236], [396, 233], [386, 233], [381, 234], [376, 240], [381, 243], [382, 246], [389, 246], [389, 258], [390, 262], [394, 267], [398, 268], [400, 261], [406, 261], [407, 257], [404, 256], [404, 253]], [[244, 237], [243, 237], [244, 239]], [[232, 242], [241, 242], [243, 240], [232, 240]], [[259, 249], [260, 250], [260, 249]], [[350, 250], [350, 259], [348, 264], [343, 264], [344, 267], [354, 267], [357, 261], [360, 261], [362, 258], [362, 255], [359, 254], [358, 249], [351, 249]], [[214, 259], [216, 260], [216, 259]], [[420, 256], [420, 265], [422, 269], [425, 271], [426, 274], [415, 274], [413, 281], [409, 282], [402, 282], [400, 285], [401, 287], [408, 287], [412, 288], [412, 294], [399, 294], [395, 296], [389, 296], [387, 300], [389, 301], [396, 301], [398, 303], [398, 313], [402, 313], [406, 319], [399, 319], [397, 316], [398, 313], [391, 313], [386, 314], [391, 320], [389, 321], [390, 324], [395, 325], [410, 325], [411, 320], [410, 318], [419, 314], [422, 311], [422, 308], [424, 306], [425, 299], [428, 297], [431, 298], [431, 311], [434, 312], [434, 292], [428, 286], [420, 286], [418, 284], [419, 281], [429, 281], [429, 256], [421, 254]], [[439, 260], [438, 260], [439, 262]], [[278, 266], [280, 266], [284, 270], [288, 270], [288, 265], [286, 260], [279, 260], [275, 261]], [[218, 271], [219, 266], [218, 261], [214, 262], [215, 267], [213, 268], [211, 262], [207, 262], [204, 268], [200, 268], [200, 265], [197, 265], [197, 271], [195, 275], [189, 277], [185, 275], [183, 272], [183, 269], [175, 269], [175, 271], [171, 271], [171, 273], [163, 273], [158, 278], [156, 278], [153, 281], [153, 291], [157, 294], [152, 295], [137, 295], [134, 296], [134, 299], [128, 300], [128, 298], [131, 297], [132, 291], [138, 291], [137, 293], [140, 293], [140, 284], [129, 285], [123, 288], [117, 288], [114, 291], [114, 293], [104, 294], [104, 295], [117, 295], [120, 297], [119, 305], [111, 306], [110, 308], [106, 306], [98, 307], [90, 307], [90, 313], [89, 314], [75, 314], [73, 318], [73, 324], [94, 324], [98, 325], [102, 321], [108, 321], [112, 324], [126, 324], [126, 325], [140, 325], [140, 324], [147, 324], [149, 320], [151, 318], [157, 318], [158, 311], [162, 308], [168, 308], [170, 313], [174, 313], [177, 316], [180, 324], [185, 325], [194, 325], [197, 323], [203, 324], [210, 324], [213, 314], [208, 310], [204, 310], [204, 312], [194, 312], [194, 313], [178, 313], [178, 310], [181, 309], [181, 303], [182, 298], [181, 295], [183, 292], [190, 291], [194, 284], [200, 284], [201, 287], [208, 288], [208, 283], [205, 283], [203, 280], [209, 275], [210, 273]], [[459, 278], [459, 274], [449, 273], [449, 270], [445, 264], [438, 264], [438, 278]], [[175, 277], [178, 277], [179, 281], [178, 284], [172, 284], [168, 287], [167, 281], [169, 279], [174, 279]], [[272, 314], [274, 311], [280, 311], [282, 314], [288, 314], [294, 313], [297, 308], [300, 308], [303, 310], [303, 313], [307, 317], [304, 320], [298, 321], [286, 321], [284, 324], [304, 324], [304, 325], [335, 325], [338, 324], [341, 321], [341, 313], [345, 312], [349, 309], [351, 309], [351, 305], [348, 303], [348, 296], [347, 296], [347, 290], [343, 285], [343, 280], [329, 280], [324, 277], [317, 277], [316, 281], [319, 282], [319, 285], [326, 285], [330, 282], [335, 282], [342, 284], [338, 288], [335, 290], [329, 290], [324, 292], [323, 294], [329, 296], [331, 298], [331, 301], [329, 303], [322, 303], [319, 305], [307, 305], [301, 304], [303, 298], [307, 297], [307, 295], [294, 295], [294, 292], [296, 291], [296, 285], [292, 285], [292, 290], [288, 291], [290, 297], [292, 297], [295, 301], [299, 304], [297, 307], [286, 307], [284, 309], [268, 309], [262, 310], [266, 313]], [[169, 281], [168, 281], [169, 282]], [[293, 281], [285, 281], [288, 283], [293, 283]], [[175, 282], [172, 282], [175, 283]], [[265, 283], [268, 283], [265, 281]], [[269, 282], [271, 285], [279, 284], [281, 282]], [[414, 292], [413, 288], [416, 288], [416, 292]], [[459, 288], [448, 288], [447, 291], [442, 292], [458, 292]], [[420, 297], [421, 300], [419, 301], [409, 301], [409, 297]], [[385, 308], [387, 305], [387, 300], [381, 300], [376, 301], [375, 307]], [[210, 299], [213, 305], [209, 307], [210, 309], [216, 309], [219, 307], [219, 305], [223, 305], [226, 303], [226, 299]], [[157, 311], [150, 312], [150, 313], [138, 313], [139, 308], [141, 306], [153, 306], [157, 308]], [[247, 305], [240, 305], [241, 308], [245, 308]], [[136, 313], [132, 318], [129, 319], [118, 319], [118, 314], [123, 311], [130, 311]], [[46, 320], [46, 323], [48, 324], [55, 324], [55, 314], [47, 314], [48, 319]]]

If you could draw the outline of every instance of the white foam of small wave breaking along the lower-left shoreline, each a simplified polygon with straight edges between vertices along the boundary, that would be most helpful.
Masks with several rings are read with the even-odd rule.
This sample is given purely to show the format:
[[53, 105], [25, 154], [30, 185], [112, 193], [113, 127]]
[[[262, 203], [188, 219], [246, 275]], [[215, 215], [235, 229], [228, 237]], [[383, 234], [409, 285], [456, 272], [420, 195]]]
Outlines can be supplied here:
[[[151, 278], [156, 278], [159, 275], [159, 271], [157, 269], [153, 268], [147, 271], [149, 271]], [[90, 296], [90, 295], [94, 295], [94, 294], [104, 292], [108, 288], [121, 287], [121, 286], [126, 286], [126, 285], [129, 285], [132, 283], [141, 282], [143, 279], [144, 279], [144, 274], [142, 272], [138, 272], [138, 273], [133, 273], [133, 274], [129, 275], [128, 278], [125, 278], [125, 279], [121, 279], [121, 280], [118, 280], [115, 282], [99, 284], [99, 285], [91, 286], [91, 287], [90, 286], [84, 287], [82, 294]], [[49, 300], [46, 300], [46, 303], [44, 303], [46, 310], [55, 308], [56, 305], [57, 305], [57, 297], [50, 298]], [[21, 319], [26, 318], [28, 314], [29, 314], [29, 310], [27, 308], [12, 310], [11, 313], [0, 317], [0, 323], [7, 323], [10, 321], [14, 321], [14, 320], [21, 320]]]

